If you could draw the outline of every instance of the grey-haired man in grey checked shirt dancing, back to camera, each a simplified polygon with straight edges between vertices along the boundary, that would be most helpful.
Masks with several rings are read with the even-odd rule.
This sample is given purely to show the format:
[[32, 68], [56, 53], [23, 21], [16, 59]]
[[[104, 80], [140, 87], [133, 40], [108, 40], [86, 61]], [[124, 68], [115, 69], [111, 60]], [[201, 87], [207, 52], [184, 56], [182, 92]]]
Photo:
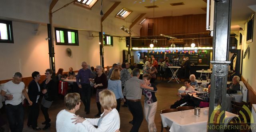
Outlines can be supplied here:
[[144, 82], [140, 80], [139, 77], [140, 70], [135, 68], [132, 71], [132, 78], [127, 80], [124, 84], [124, 96], [126, 96], [128, 108], [133, 116], [133, 126], [130, 132], [138, 132], [143, 121], [143, 110], [140, 102], [142, 88], [140, 88], [140, 85], [144, 84]]

